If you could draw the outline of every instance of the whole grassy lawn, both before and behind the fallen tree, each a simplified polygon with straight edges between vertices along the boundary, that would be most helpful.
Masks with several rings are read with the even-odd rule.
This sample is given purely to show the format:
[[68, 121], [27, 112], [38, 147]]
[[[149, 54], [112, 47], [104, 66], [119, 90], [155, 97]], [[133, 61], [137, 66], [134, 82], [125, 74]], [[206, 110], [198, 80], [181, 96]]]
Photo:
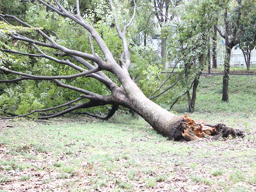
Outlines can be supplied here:
[[[256, 77], [202, 77], [192, 118], [244, 139], [173, 142], [142, 118], [0, 119], [0, 191], [256, 191]], [[173, 108], [186, 113], [182, 98]], [[8, 125], [8, 126], [7, 126]]]

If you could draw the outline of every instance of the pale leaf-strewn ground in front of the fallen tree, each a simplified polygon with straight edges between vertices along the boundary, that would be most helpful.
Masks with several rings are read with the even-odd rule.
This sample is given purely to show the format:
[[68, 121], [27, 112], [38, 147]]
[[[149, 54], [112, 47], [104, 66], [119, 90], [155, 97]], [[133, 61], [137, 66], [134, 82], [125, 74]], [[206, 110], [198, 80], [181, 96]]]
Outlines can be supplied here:
[[[92, 119], [75, 122], [79, 123], [73, 129], [77, 135], [69, 135], [68, 130], [62, 132], [64, 125], [68, 129], [74, 125], [74, 120], [66, 118], [50, 122], [47, 128], [40, 122], [29, 122], [28, 128], [26, 120], [0, 121], [1, 138], [9, 137], [4, 142], [0, 140], [0, 190], [256, 191], [255, 134], [216, 142], [172, 142], [147, 125], [135, 130], [133, 125], [119, 125], [116, 130], [111, 129], [110, 137], [106, 134], [108, 128], [103, 133], [90, 128], [91, 122], [98, 127], [106, 124]], [[87, 128], [80, 131], [76, 130], [78, 127]], [[42, 134], [45, 129], [51, 131], [38, 134], [42, 129]], [[16, 135], [18, 130], [25, 134], [34, 131], [41, 146], [53, 148], [42, 149], [29, 139], [22, 140], [19, 133]], [[16, 141], [11, 140], [15, 136]], [[58, 145], [61, 148], [57, 151]], [[215, 176], [214, 170], [222, 172]], [[234, 173], [236, 179], [231, 177]]]

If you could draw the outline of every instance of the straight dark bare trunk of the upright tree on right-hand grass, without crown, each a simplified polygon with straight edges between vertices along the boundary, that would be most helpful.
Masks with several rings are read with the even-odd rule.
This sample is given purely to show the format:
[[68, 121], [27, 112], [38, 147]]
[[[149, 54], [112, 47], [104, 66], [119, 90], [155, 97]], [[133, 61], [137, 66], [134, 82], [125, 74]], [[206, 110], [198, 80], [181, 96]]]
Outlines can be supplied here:
[[226, 56], [224, 61], [224, 73], [223, 73], [223, 94], [222, 94], [222, 101], [229, 101], [228, 98], [228, 83], [230, 79], [230, 55], [231, 49], [226, 45]]

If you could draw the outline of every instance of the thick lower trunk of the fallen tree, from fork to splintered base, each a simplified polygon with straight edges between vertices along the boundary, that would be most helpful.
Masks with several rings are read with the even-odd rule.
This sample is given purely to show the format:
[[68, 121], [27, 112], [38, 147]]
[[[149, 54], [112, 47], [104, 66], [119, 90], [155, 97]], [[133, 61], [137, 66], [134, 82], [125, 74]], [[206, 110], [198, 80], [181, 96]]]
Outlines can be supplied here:
[[118, 91], [112, 94], [114, 100], [126, 108], [131, 108], [138, 115], [144, 118], [153, 129], [175, 141], [192, 141], [202, 137], [218, 139], [237, 136], [244, 136], [244, 132], [228, 128], [226, 125], [206, 125], [204, 122], [196, 122], [187, 115], [178, 116], [170, 111], [161, 108], [153, 101], [150, 101], [129, 78], [123, 84], [125, 92]]

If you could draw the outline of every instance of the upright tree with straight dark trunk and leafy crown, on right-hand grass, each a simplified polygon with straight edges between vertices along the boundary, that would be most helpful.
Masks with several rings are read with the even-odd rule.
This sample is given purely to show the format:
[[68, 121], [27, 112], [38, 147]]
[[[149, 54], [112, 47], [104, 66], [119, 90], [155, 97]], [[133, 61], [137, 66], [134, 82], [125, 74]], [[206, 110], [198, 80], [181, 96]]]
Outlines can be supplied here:
[[[249, 10], [253, 2], [247, 0], [239, 1], [220, 1], [217, 2], [220, 6], [218, 9], [220, 18], [218, 26], [216, 27], [218, 33], [223, 37], [226, 46], [226, 54], [224, 60], [224, 73], [223, 73], [223, 101], [229, 101], [228, 85], [230, 74], [230, 56], [231, 50], [236, 46], [244, 33], [244, 24], [251, 19]], [[222, 19], [222, 22], [220, 22]]]

